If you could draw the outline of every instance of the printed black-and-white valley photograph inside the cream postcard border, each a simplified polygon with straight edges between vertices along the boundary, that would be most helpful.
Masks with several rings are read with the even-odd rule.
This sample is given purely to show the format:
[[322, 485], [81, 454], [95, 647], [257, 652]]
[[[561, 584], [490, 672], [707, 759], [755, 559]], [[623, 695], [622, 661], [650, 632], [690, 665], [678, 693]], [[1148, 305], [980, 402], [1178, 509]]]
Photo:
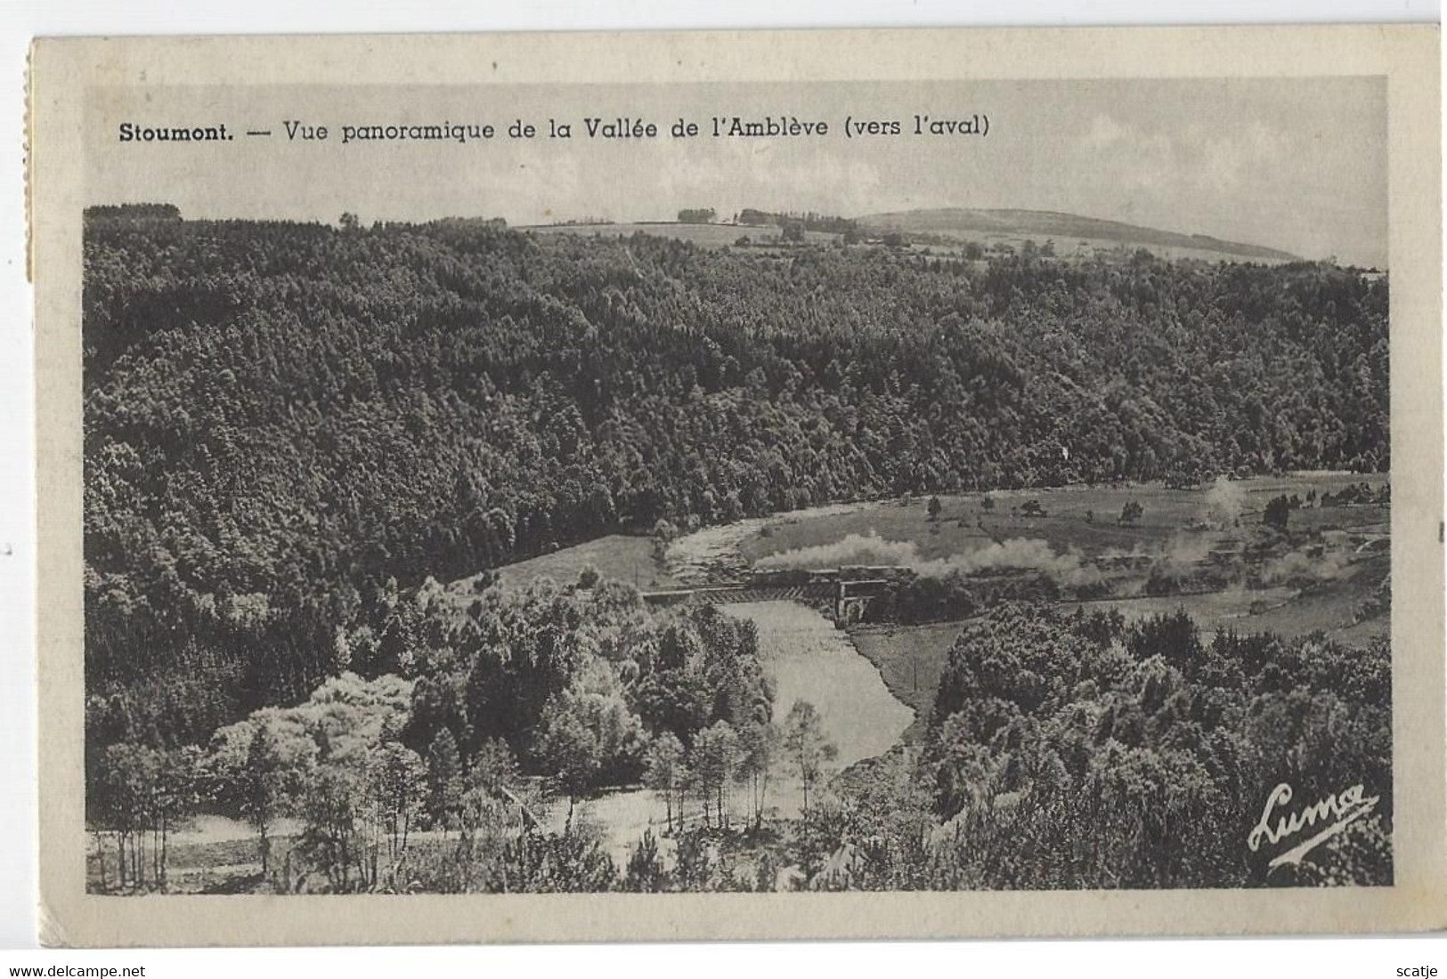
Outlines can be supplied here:
[[589, 100], [90, 201], [91, 892], [1392, 882], [1382, 78]]

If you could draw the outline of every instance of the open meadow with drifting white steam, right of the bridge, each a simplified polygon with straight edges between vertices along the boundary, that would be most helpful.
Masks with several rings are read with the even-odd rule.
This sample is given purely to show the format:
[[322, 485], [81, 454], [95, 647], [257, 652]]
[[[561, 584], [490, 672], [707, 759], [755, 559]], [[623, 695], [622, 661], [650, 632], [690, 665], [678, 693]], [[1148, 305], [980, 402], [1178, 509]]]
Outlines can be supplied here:
[[[915, 497], [783, 515], [739, 535], [735, 547], [741, 563], [760, 568], [897, 565], [967, 578], [1030, 573], [1052, 578], [1062, 599], [1090, 599], [1088, 606], [1113, 606], [1127, 617], [1184, 607], [1204, 632], [1321, 629], [1360, 642], [1388, 626], [1386, 616], [1376, 626], [1356, 619], [1389, 570], [1389, 506], [1321, 506], [1320, 499], [1362, 483], [1376, 492], [1386, 477], [1302, 473], [1189, 490], [943, 496], [938, 519], [928, 499]], [[1285, 534], [1263, 522], [1275, 496], [1299, 499]], [[1127, 502], [1143, 512], [1121, 525]], [[1027, 503], [1039, 510], [1026, 515]]]

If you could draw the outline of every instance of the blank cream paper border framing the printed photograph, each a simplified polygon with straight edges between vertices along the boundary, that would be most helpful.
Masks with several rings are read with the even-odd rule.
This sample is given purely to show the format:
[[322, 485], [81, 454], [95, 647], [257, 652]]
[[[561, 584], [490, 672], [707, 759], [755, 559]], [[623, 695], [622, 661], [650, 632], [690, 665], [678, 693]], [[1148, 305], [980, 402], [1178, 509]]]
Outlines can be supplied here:
[[[357, 91], [365, 90], [323, 93], [314, 88], [318, 85], [466, 85], [485, 98], [489, 87], [522, 84], [1229, 75], [1388, 78], [1395, 886], [149, 899], [84, 894], [80, 217], [82, 205], [93, 202], [85, 188], [87, 165], [96, 163], [101, 148], [114, 145], [113, 129], [101, 132], [88, 120], [143, 104], [146, 98], [177, 97], [195, 106], [192, 100], [200, 91], [195, 87], [207, 87], [217, 104], [245, 95], [247, 87], [255, 91], [265, 85], [271, 93], [298, 87], [294, 91], [301, 104], [294, 111], [320, 117], [336, 116], [327, 111], [324, 100], [356, 100]], [[386, 94], [385, 88], [372, 91], [379, 97]], [[492, 91], [499, 98], [504, 94]], [[310, 101], [301, 98], [302, 93]], [[204, 101], [205, 94], [201, 97]], [[41, 878], [46, 943], [1233, 934], [1406, 931], [1447, 924], [1435, 27], [41, 40], [35, 48], [30, 98], [38, 307]], [[149, 108], [148, 116], [166, 116], [153, 103]], [[506, 113], [482, 114], [496, 120]], [[1343, 124], [1351, 121], [1344, 119]], [[451, 152], [476, 152], [478, 166], [485, 168], [488, 149]], [[301, 171], [295, 179], [308, 178], [324, 181], [324, 174]], [[640, 179], [650, 178], [640, 175]], [[224, 182], [218, 187], [216, 192], [224, 194]], [[169, 198], [158, 192], [152, 200]], [[224, 211], [224, 197], [218, 208]]]

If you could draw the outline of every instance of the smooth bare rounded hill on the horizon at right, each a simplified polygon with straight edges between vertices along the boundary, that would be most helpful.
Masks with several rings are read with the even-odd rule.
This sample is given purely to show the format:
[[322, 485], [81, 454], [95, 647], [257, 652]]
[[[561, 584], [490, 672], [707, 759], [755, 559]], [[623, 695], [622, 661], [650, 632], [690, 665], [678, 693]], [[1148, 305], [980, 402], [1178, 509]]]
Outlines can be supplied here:
[[1082, 217], [1079, 214], [1065, 214], [1062, 211], [942, 207], [867, 214], [857, 220], [868, 228], [912, 234], [938, 234], [943, 237], [1052, 237], [1059, 250], [1065, 250], [1077, 241], [1084, 240], [1215, 252], [1233, 257], [1262, 259], [1268, 262], [1301, 260], [1301, 256], [1260, 244], [1224, 241], [1208, 234], [1162, 231], [1160, 228]]

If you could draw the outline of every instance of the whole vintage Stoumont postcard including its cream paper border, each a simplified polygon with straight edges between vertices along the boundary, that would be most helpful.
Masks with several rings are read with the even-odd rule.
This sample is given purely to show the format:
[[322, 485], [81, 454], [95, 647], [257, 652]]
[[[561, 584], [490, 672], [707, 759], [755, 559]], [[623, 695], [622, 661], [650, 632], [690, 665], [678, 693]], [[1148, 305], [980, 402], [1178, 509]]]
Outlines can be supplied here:
[[45, 940], [1443, 927], [1437, 59], [36, 42]]

